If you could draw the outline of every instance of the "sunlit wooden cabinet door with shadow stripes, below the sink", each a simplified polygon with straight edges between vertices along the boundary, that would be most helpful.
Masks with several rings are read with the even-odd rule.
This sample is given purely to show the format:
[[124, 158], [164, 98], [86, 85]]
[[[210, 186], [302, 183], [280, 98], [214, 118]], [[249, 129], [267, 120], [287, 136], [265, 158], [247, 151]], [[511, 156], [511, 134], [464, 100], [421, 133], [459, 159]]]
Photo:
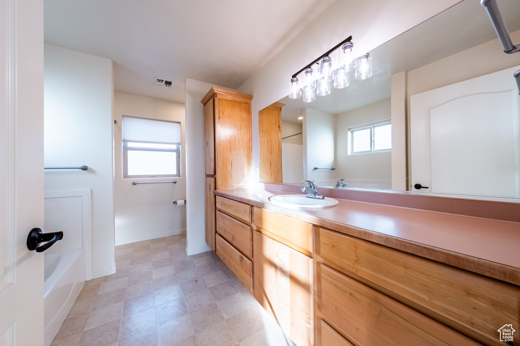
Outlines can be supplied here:
[[314, 344], [312, 259], [254, 232], [254, 296], [298, 346]]

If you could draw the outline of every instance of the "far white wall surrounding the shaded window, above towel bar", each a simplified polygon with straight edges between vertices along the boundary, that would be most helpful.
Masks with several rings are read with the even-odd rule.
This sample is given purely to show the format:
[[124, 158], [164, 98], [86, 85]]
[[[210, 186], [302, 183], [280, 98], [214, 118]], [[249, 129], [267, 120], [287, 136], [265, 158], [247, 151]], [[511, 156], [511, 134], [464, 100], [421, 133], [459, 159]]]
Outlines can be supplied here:
[[[181, 173], [176, 178], [123, 178], [122, 116], [180, 122]], [[186, 231], [185, 107], [182, 103], [114, 93], [115, 244], [173, 236]], [[170, 182], [142, 184], [132, 182]]]

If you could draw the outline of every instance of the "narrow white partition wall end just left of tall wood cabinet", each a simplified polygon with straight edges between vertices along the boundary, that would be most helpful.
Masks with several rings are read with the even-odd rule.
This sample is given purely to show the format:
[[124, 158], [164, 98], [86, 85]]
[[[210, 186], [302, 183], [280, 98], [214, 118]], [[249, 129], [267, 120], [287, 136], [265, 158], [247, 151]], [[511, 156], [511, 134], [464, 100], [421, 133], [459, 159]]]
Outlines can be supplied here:
[[186, 79], [186, 253], [209, 251], [205, 241], [204, 106], [214, 85]]

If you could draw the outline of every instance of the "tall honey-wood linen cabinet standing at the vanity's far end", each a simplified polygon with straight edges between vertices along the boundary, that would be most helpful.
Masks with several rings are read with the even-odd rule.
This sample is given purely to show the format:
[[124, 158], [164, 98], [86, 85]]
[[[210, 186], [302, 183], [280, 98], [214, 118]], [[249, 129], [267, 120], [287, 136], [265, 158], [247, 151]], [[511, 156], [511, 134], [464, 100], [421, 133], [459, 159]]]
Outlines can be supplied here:
[[215, 251], [215, 189], [245, 185], [251, 172], [252, 95], [211, 88], [204, 105], [206, 243]]

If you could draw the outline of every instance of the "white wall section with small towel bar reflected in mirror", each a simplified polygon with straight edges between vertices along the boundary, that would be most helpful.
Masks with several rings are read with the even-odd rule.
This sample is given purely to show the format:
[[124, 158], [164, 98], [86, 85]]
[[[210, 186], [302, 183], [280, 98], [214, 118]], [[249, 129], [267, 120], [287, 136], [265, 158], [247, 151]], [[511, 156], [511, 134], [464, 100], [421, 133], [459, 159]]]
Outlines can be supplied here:
[[334, 160], [334, 119], [332, 114], [306, 108], [303, 116], [304, 177], [316, 183], [328, 183], [335, 178], [335, 171], [314, 170], [332, 168]]

